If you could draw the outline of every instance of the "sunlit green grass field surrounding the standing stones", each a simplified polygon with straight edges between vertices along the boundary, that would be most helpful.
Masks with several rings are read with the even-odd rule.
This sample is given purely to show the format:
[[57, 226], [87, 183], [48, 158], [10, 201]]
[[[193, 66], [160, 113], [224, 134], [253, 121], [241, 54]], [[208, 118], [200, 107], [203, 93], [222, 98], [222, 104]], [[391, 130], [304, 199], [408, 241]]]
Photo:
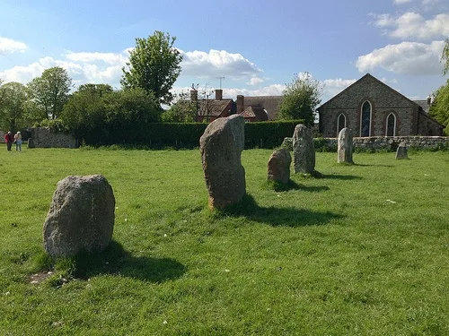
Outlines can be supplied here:
[[[0, 146], [0, 334], [449, 335], [449, 152], [317, 153], [324, 178], [284, 192], [270, 153], [243, 151], [249, 197], [211, 212], [198, 150]], [[31, 283], [57, 181], [90, 174], [113, 243]]]

